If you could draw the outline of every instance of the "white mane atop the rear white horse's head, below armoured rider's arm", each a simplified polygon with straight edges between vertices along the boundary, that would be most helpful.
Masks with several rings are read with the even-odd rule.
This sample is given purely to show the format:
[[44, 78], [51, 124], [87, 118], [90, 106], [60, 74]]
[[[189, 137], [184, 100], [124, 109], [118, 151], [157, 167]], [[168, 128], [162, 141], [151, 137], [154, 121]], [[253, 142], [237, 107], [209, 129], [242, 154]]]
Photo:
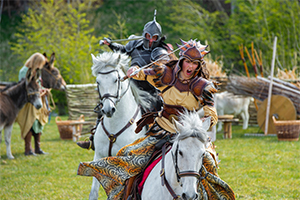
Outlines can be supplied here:
[[[116, 62], [119, 60], [118, 65]], [[105, 66], [109, 65], [117, 69], [121, 69], [126, 74], [129, 69], [130, 57], [121, 52], [104, 52], [96, 56], [93, 60], [92, 73], [97, 76], [98, 72]]]

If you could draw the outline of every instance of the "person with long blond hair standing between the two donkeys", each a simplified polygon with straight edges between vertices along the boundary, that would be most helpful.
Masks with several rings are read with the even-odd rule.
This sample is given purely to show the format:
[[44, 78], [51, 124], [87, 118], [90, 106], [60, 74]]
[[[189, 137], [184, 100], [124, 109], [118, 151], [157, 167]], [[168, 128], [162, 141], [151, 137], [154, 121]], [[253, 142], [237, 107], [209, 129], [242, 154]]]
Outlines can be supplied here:
[[[25, 65], [19, 71], [19, 80], [25, 77], [26, 72], [29, 68], [32, 71], [36, 69], [42, 69], [46, 64], [47, 58], [41, 53], [32, 54], [28, 60], [25, 62]], [[39, 78], [41, 81], [41, 78]], [[41, 83], [41, 82], [39, 82]], [[31, 103], [26, 103], [25, 106], [19, 112], [16, 121], [20, 125], [21, 136], [25, 141], [25, 155], [26, 156], [36, 156], [36, 154], [47, 154], [40, 148], [41, 134], [44, 129], [44, 125], [48, 122], [49, 110], [47, 107], [47, 94], [49, 89], [42, 88], [40, 85], [40, 95], [43, 103], [43, 107], [39, 110], [36, 109]], [[32, 151], [31, 147], [31, 136], [34, 138], [35, 150]]]

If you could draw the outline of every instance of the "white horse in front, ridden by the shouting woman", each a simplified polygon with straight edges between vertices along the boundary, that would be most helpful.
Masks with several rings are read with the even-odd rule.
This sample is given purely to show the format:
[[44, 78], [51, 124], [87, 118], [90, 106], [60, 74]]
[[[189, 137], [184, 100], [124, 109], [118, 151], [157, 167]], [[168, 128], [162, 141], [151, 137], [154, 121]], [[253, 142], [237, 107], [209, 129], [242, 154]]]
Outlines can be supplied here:
[[[196, 112], [184, 113], [179, 123], [174, 121], [178, 136], [172, 141], [172, 149], [152, 169], [144, 183], [143, 200], [172, 200], [180, 196], [185, 200], [199, 198], [198, 183], [203, 166], [202, 159], [206, 149], [210, 117], [204, 122]], [[164, 162], [164, 169], [162, 169]], [[165, 184], [162, 186], [161, 172]], [[167, 188], [170, 185], [170, 189]]]

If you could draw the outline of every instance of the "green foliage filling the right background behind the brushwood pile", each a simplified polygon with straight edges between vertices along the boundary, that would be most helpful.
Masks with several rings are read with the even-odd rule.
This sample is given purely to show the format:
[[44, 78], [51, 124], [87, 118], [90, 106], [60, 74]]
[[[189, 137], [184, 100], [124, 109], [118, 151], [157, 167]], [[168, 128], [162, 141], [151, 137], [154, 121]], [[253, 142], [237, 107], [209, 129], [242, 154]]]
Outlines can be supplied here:
[[[292, 69], [300, 65], [300, 6], [298, 1], [227, 1], [235, 6], [229, 17], [221, 11], [208, 12], [198, 1], [172, 3], [169, 26], [172, 34], [188, 40], [207, 42], [213, 59], [224, 56], [225, 68], [244, 72], [239, 45], [263, 52], [263, 65], [270, 69], [274, 37], [278, 37], [276, 66]], [[247, 54], [245, 58], [249, 61]], [[251, 66], [248, 62], [248, 67]], [[250, 68], [250, 67], [249, 67]], [[253, 72], [253, 69], [250, 70]], [[268, 73], [269, 74], [269, 73]]]

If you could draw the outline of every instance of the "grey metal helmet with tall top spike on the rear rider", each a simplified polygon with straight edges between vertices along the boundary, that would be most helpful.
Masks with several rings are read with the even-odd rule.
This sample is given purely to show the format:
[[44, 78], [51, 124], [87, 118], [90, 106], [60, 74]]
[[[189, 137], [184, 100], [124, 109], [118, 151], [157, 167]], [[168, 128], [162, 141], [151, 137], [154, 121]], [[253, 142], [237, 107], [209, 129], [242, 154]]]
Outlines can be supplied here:
[[[151, 47], [149, 47], [149, 40], [146, 39], [146, 33], [148, 33], [151, 38], [157, 35], [157, 40], [152, 42]], [[161, 35], [162, 35], [162, 29], [160, 24], [156, 22], [156, 10], [155, 10], [153, 21], [150, 21], [147, 24], [145, 24], [143, 29], [143, 42], [144, 42], [145, 49], [152, 50], [155, 47], [157, 47], [160, 43]]]

